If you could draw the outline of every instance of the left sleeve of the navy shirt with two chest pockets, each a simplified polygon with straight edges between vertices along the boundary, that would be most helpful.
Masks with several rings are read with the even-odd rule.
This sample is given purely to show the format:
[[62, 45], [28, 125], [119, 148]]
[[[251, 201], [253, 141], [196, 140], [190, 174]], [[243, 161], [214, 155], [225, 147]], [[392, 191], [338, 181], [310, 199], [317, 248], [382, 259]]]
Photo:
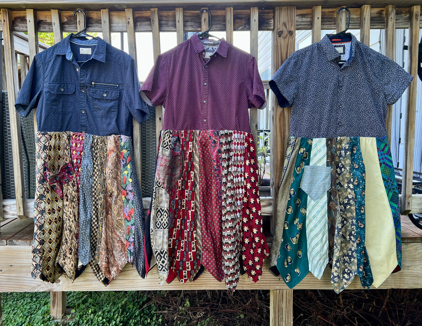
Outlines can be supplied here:
[[15, 108], [22, 116], [28, 116], [38, 106], [43, 87], [43, 64], [40, 57], [35, 56], [15, 102]]

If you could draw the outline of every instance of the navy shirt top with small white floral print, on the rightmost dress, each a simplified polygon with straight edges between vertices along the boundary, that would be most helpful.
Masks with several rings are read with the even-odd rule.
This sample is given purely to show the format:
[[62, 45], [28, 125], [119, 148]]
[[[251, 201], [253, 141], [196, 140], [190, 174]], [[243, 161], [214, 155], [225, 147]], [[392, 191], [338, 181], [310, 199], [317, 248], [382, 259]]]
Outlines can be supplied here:
[[[332, 44], [325, 35], [295, 51], [273, 75], [270, 86], [280, 106], [292, 108], [290, 135], [387, 136], [387, 105], [400, 98], [413, 76], [348, 35], [350, 43]], [[341, 57], [346, 62], [339, 67]]]

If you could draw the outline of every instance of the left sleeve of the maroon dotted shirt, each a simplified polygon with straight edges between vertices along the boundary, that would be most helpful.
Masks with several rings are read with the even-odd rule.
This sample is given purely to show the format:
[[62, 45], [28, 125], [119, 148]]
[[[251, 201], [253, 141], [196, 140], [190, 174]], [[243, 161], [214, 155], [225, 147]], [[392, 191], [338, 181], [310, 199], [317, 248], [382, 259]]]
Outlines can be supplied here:
[[148, 105], [164, 105], [168, 90], [168, 67], [160, 54], [141, 87], [141, 97]]

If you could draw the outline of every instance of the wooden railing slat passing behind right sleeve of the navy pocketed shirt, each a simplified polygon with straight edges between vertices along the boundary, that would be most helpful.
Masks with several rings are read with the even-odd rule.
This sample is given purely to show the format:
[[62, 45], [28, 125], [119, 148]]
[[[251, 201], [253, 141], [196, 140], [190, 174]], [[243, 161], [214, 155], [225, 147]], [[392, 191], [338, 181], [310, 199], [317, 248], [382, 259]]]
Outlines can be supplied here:
[[[135, 34], [135, 24], [134, 24], [135, 21], [133, 20], [133, 9], [132, 8], [125, 9], [125, 13], [126, 13], [127, 45], [129, 46], [129, 55], [135, 60], [135, 65], [138, 66], [137, 64], [138, 61], [136, 60], [136, 34]], [[108, 22], [108, 27], [110, 27], [109, 22]], [[139, 124], [139, 122], [136, 121], [135, 118], [133, 118], [132, 121], [133, 121], [133, 152], [134, 152], [133, 155], [135, 156], [135, 167], [136, 167], [136, 174], [138, 175], [138, 179], [139, 179], [139, 186], [142, 187], [141, 124]]]

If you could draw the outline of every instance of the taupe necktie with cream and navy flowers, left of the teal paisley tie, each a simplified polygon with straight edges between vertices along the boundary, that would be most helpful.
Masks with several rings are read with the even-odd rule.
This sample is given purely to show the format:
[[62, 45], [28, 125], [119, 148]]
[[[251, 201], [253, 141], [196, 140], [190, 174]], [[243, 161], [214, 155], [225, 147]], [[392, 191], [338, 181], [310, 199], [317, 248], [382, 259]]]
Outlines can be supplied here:
[[334, 291], [340, 293], [352, 283], [357, 272], [356, 215], [351, 173], [350, 138], [336, 138], [335, 152], [337, 154], [335, 166], [340, 218], [335, 225], [331, 283]]

